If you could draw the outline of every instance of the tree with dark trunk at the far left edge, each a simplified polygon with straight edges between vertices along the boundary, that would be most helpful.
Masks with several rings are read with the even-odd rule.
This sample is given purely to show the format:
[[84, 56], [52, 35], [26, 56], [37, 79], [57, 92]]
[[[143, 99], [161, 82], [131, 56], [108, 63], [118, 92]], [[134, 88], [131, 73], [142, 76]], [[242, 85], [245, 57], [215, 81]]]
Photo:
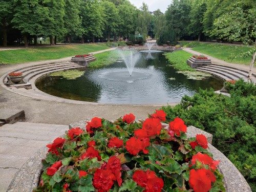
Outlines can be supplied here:
[[12, 1], [0, 1], [0, 25], [2, 26], [3, 33], [3, 46], [7, 46], [7, 27], [10, 25], [12, 19]]

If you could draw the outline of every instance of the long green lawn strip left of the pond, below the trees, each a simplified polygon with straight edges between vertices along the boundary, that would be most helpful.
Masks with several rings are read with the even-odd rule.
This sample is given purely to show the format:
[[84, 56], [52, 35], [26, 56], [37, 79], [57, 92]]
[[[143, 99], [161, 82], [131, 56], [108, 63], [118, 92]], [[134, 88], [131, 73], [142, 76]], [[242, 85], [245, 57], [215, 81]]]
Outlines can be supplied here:
[[84, 44], [0, 51], [0, 64], [16, 64], [30, 61], [60, 59], [108, 48], [109, 47], [105, 44]]

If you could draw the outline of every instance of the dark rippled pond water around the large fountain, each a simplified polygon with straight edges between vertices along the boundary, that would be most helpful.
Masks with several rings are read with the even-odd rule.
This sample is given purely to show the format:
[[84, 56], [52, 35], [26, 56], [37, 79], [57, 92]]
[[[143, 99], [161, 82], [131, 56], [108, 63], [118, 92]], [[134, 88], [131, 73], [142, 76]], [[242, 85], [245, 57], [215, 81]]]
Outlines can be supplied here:
[[207, 77], [188, 79], [176, 73], [163, 53], [141, 52], [141, 59], [130, 76], [123, 61], [101, 69], [71, 70], [49, 74], [36, 87], [57, 97], [116, 104], [165, 104], [180, 102], [200, 88], [220, 90], [223, 80]]

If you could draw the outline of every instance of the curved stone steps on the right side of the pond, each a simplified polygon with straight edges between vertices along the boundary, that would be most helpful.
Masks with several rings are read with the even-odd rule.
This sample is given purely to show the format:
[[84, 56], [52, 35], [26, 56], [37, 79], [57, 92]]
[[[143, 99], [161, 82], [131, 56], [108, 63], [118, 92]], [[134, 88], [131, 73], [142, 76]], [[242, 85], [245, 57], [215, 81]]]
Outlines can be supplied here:
[[[246, 70], [223, 65], [217, 65], [214, 63], [207, 66], [198, 67], [196, 68], [196, 70], [218, 76], [224, 80], [244, 79], [245, 81], [247, 81], [248, 76], [248, 71]], [[252, 82], [256, 83], [256, 74], [252, 73], [251, 80]]]

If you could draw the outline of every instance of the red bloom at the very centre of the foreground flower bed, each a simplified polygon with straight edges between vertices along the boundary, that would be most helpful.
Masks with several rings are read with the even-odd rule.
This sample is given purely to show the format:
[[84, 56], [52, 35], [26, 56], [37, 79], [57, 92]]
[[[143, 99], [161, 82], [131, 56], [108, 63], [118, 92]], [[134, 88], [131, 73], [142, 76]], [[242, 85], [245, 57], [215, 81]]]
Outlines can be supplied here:
[[144, 154], [148, 154], [148, 150], [146, 150], [146, 147], [148, 146], [150, 146], [150, 139], [137, 139], [135, 137], [131, 137], [128, 141], [126, 141], [125, 148], [130, 154], [137, 155], [140, 151], [142, 151]]

